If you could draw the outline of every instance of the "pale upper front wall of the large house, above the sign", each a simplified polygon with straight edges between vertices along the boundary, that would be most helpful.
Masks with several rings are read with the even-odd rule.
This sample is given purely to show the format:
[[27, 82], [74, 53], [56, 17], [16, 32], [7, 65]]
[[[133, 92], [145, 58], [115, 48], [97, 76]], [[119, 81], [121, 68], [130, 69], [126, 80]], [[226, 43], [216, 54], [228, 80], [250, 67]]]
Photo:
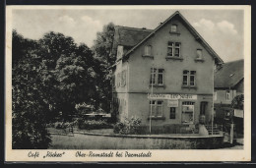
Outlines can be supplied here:
[[[178, 26], [180, 35], [170, 34], [171, 24]], [[168, 41], [181, 42], [183, 60], [165, 60]], [[152, 45], [155, 59], [143, 58], [144, 46]], [[204, 62], [195, 62], [196, 50], [203, 49]], [[152, 65], [164, 69], [165, 88], [154, 88], [154, 92], [213, 93], [213, 58], [194, 36], [177, 19], [160, 28], [154, 36], [139, 46], [129, 58], [129, 92], [150, 92], [150, 72]], [[196, 71], [197, 89], [182, 88], [183, 70]]]

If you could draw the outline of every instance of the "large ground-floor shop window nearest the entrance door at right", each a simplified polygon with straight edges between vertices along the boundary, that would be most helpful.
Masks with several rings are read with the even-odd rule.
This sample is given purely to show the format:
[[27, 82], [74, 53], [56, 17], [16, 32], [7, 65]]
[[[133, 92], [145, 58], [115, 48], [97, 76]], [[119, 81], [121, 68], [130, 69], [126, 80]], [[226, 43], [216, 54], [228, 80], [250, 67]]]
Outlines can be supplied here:
[[194, 102], [191, 102], [191, 101], [182, 102], [181, 122], [183, 124], [194, 123]]

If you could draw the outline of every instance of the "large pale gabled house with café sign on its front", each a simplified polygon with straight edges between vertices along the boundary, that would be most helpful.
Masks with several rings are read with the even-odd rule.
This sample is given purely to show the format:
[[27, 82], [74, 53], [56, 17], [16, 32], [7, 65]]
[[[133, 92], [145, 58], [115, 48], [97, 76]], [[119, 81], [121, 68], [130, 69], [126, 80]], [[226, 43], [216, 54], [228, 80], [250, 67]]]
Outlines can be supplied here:
[[178, 11], [155, 29], [115, 27], [112, 54], [112, 115], [120, 121], [211, 122], [214, 69], [223, 60]]

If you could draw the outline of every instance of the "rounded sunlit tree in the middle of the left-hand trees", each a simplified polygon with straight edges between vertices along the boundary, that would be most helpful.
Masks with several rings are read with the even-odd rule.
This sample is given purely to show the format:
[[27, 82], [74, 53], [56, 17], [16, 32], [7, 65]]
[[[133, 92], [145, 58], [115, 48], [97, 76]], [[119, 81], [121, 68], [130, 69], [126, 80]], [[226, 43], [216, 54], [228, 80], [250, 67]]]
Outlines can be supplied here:
[[96, 73], [93, 64], [93, 52], [85, 44], [76, 48], [71, 55], [61, 55], [57, 60], [55, 76], [59, 97], [56, 102], [65, 119], [75, 113], [76, 104], [95, 103]]

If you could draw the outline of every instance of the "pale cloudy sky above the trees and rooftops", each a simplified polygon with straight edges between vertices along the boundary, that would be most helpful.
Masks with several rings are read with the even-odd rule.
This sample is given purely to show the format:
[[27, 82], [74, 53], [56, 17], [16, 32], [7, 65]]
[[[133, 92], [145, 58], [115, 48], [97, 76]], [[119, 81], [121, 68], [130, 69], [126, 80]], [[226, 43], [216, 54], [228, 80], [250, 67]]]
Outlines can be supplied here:
[[[177, 9], [178, 10], [178, 9]], [[15, 9], [12, 27], [24, 37], [39, 39], [48, 31], [64, 33], [77, 43], [94, 44], [104, 25], [157, 28], [176, 9]], [[178, 10], [224, 62], [243, 59], [242, 10]]]

